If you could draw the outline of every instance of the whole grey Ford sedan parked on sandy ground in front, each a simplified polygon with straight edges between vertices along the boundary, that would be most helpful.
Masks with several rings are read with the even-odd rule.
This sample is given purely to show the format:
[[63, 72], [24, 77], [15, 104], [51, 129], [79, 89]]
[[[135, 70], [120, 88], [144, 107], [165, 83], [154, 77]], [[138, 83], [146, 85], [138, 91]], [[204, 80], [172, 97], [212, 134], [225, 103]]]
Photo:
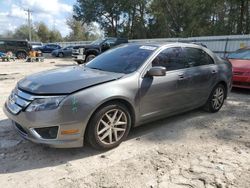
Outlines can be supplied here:
[[20, 80], [4, 112], [35, 143], [111, 149], [131, 127], [199, 107], [219, 111], [231, 79], [231, 64], [202, 46], [125, 44]]

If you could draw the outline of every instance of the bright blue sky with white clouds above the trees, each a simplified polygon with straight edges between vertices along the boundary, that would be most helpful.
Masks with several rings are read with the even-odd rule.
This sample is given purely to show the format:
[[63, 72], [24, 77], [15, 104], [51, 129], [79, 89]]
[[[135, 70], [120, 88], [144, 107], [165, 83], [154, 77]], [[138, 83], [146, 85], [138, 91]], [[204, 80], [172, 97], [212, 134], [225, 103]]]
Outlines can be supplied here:
[[0, 34], [27, 24], [28, 14], [24, 10], [30, 9], [32, 24], [42, 21], [66, 36], [70, 32], [66, 19], [72, 16], [75, 3], [76, 0], [0, 0]]

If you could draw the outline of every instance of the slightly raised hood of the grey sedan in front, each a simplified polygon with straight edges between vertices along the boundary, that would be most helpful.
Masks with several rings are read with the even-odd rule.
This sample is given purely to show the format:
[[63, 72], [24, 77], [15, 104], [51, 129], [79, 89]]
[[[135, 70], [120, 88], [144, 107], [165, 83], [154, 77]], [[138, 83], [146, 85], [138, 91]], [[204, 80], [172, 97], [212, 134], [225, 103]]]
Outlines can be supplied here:
[[30, 75], [18, 82], [18, 88], [33, 94], [70, 94], [124, 74], [104, 72], [83, 66], [71, 66]]

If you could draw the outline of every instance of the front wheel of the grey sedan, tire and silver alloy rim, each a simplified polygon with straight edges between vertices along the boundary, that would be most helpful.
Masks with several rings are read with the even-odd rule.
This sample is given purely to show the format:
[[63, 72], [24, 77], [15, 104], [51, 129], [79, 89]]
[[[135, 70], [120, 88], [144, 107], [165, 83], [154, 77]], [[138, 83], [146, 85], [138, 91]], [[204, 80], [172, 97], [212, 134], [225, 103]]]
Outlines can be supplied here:
[[117, 147], [128, 135], [131, 115], [121, 103], [101, 107], [90, 120], [86, 130], [89, 144], [99, 150]]

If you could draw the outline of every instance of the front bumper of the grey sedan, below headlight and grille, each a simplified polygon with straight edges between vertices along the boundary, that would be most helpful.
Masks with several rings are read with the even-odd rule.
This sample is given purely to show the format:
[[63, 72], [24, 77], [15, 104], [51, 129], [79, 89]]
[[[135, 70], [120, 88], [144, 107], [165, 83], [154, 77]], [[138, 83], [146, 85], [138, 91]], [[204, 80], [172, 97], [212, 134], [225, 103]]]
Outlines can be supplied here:
[[[18, 98], [19, 96], [17, 96], [17, 99]], [[14, 105], [18, 101], [17, 99], [14, 99]], [[8, 101], [9, 100], [10, 98]], [[6, 116], [12, 120], [14, 127], [23, 138], [55, 148], [73, 148], [83, 146], [83, 132], [85, 126], [81, 122], [70, 119], [71, 116], [67, 117], [65, 115], [68, 113], [64, 112], [65, 109], [67, 110], [67, 107], [63, 109], [60, 109], [59, 107], [55, 110], [40, 112], [26, 112], [25, 108], [19, 106], [21, 103], [18, 103], [18, 105], [16, 105], [19, 106], [21, 110], [17, 113], [13, 113], [13, 110], [8, 107], [8, 101], [5, 103], [3, 111]], [[23, 105], [25, 106], [27, 104], [23, 103]], [[56, 129], [53, 129], [55, 127]], [[41, 133], [41, 131], [39, 132], [39, 130], [53, 130], [53, 135], [55, 136], [48, 138], [44, 133]], [[77, 131], [66, 134], [69, 130]]]

